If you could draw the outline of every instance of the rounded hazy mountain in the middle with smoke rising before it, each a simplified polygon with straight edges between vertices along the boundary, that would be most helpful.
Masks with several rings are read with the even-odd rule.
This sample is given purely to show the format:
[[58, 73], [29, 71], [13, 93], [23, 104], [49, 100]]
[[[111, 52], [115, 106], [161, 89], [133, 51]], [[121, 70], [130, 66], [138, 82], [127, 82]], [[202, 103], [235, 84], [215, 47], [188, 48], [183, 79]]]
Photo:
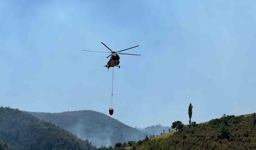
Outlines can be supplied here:
[[127, 126], [106, 114], [92, 110], [62, 113], [29, 113], [56, 124], [82, 139], [88, 138], [96, 146], [113, 146], [116, 142], [139, 140], [146, 135], [146, 133]]

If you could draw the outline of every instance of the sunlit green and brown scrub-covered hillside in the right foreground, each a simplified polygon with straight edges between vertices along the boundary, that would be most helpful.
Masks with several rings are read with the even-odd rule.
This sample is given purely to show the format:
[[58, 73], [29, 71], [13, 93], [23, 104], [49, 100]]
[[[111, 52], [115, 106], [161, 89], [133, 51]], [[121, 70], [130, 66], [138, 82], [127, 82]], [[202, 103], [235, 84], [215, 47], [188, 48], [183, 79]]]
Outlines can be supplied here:
[[223, 115], [204, 124], [184, 126], [169, 136], [117, 143], [114, 149], [128, 146], [136, 150], [256, 150], [256, 114]]

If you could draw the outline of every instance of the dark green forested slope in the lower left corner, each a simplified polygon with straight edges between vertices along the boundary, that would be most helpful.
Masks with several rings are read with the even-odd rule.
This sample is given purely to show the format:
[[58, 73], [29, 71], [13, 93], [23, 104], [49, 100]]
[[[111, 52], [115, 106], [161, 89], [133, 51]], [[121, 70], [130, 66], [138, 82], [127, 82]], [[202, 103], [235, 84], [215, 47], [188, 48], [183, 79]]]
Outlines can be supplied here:
[[[31, 114], [0, 107], [0, 141], [12, 150], [94, 150], [72, 133]], [[1, 144], [0, 144], [1, 145]]]

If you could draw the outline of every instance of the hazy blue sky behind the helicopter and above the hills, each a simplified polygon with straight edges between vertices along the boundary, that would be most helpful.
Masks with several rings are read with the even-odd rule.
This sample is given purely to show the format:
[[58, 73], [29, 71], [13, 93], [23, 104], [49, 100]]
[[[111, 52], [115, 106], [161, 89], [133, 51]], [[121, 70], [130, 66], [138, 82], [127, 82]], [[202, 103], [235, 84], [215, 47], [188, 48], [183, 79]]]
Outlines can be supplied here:
[[129, 126], [256, 112], [254, 0], [0, 0], [0, 105], [108, 114]]

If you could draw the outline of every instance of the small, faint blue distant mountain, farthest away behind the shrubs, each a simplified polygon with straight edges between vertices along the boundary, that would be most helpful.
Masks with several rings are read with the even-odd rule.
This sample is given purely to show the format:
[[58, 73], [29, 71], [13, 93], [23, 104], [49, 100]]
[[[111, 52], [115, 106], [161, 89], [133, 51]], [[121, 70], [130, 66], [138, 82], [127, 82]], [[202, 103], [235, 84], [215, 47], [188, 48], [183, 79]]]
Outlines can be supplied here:
[[171, 129], [170, 126], [162, 126], [161, 124], [157, 124], [156, 126], [148, 126], [146, 128], [138, 128], [139, 130], [147, 133], [148, 135], [160, 135], [161, 133], [163, 134], [168, 133], [169, 129]]

